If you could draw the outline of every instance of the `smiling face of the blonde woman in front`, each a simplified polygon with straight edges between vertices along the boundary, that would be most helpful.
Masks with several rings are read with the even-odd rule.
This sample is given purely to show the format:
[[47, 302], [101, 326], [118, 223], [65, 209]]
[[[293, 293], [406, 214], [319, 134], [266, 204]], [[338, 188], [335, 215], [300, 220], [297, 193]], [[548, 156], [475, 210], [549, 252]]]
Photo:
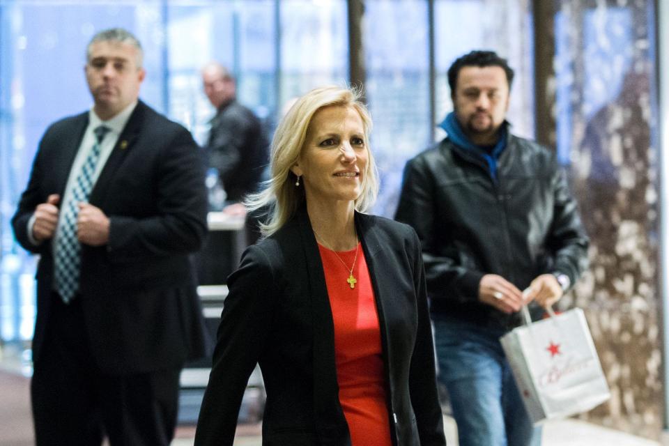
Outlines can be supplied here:
[[302, 177], [308, 201], [354, 201], [362, 192], [367, 161], [360, 114], [332, 105], [314, 114], [292, 170]]

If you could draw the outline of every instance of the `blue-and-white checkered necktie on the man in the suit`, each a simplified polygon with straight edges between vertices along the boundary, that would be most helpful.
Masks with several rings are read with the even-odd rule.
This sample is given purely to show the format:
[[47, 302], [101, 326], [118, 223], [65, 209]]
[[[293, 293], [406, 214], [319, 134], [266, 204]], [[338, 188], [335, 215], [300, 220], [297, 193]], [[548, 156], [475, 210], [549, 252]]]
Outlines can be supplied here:
[[56, 290], [66, 303], [72, 300], [79, 289], [79, 264], [81, 263], [79, 252], [82, 250], [82, 245], [77, 240], [77, 216], [79, 215], [77, 203], [89, 199], [93, 188], [93, 173], [100, 160], [100, 144], [109, 130], [104, 125], [93, 130], [96, 138], [95, 144], [89, 156], [86, 157], [75, 183], [72, 184], [70, 201], [65, 203], [62, 210], [64, 220], [56, 246], [54, 278]]

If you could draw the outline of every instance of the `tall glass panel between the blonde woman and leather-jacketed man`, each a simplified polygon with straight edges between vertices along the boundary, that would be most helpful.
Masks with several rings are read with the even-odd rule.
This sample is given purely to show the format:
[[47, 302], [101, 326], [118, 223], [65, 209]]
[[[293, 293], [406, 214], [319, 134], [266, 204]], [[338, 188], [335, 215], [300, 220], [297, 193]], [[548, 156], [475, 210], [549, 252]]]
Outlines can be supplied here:
[[429, 35], [424, 0], [368, 0], [365, 91], [380, 193], [374, 212], [394, 215], [406, 160], [430, 139]]

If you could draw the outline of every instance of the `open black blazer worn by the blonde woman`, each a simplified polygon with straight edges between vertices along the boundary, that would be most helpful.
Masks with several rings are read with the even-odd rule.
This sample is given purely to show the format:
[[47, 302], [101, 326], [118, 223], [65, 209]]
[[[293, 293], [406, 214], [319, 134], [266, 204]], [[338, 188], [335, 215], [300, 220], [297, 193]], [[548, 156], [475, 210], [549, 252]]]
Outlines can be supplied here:
[[[379, 312], [394, 444], [445, 445], [416, 233], [360, 213], [355, 225]], [[351, 445], [339, 404], [330, 301], [305, 208], [247, 249], [229, 290], [195, 444], [233, 444], [258, 362], [267, 391], [263, 445]]]

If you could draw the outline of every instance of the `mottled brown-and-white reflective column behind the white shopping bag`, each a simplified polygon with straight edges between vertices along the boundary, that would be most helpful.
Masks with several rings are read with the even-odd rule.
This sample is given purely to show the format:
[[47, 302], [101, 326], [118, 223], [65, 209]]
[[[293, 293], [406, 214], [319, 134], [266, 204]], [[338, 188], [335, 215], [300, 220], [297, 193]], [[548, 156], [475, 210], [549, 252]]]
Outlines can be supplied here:
[[557, 152], [591, 238], [585, 309], [610, 401], [581, 415], [659, 438], [659, 160], [652, 0], [555, 1]]

